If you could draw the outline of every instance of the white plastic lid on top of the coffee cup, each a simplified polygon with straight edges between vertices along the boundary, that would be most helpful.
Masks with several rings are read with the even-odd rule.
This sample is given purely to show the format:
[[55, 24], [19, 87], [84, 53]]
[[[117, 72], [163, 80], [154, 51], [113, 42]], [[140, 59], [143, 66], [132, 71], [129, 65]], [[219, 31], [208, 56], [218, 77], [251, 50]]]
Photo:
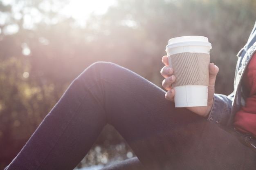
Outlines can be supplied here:
[[211, 49], [211, 43], [209, 43], [208, 38], [204, 36], [183, 36], [171, 38], [168, 41], [166, 49], [178, 46], [209, 46]]

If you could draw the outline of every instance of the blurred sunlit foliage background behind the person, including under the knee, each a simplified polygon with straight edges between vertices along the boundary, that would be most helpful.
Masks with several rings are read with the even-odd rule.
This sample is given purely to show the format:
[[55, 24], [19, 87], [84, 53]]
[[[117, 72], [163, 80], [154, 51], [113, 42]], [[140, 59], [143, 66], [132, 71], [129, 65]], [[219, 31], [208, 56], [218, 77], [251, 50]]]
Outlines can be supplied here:
[[[203, 35], [220, 68], [216, 93], [231, 93], [236, 54], [256, 20], [256, 0], [114, 0], [79, 20], [63, 13], [70, 1], [0, 0], [0, 170], [93, 62], [115, 62], [161, 87], [168, 39]], [[107, 126], [78, 168], [133, 156]]]

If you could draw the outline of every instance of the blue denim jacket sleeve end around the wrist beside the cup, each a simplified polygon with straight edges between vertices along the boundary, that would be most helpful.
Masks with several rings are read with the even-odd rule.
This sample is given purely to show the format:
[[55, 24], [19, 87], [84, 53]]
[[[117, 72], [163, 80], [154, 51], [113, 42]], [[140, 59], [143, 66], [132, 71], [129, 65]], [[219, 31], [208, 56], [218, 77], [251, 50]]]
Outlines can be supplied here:
[[213, 124], [219, 124], [220, 126], [227, 126], [231, 108], [232, 99], [234, 95], [232, 93], [229, 96], [214, 94], [213, 106], [208, 116], [208, 120]]

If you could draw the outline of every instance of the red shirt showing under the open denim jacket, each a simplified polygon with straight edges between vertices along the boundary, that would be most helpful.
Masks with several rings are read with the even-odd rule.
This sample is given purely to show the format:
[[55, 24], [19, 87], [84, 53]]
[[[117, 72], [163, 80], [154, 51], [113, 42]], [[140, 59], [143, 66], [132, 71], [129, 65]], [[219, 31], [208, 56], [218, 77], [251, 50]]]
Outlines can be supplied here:
[[246, 98], [245, 106], [236, 113], [234, 127], [256, 137], [256, 53], [252, 56], [242, 81], [249, 97]]

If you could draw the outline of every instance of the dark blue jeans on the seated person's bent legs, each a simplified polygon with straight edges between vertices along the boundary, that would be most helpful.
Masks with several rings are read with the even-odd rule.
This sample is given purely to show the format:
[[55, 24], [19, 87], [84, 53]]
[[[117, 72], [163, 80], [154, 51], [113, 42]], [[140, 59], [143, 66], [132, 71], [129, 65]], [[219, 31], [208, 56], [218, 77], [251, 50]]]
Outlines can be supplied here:
[[139, 161], [131, 162], [146, 170], [255, 169], [255, 152], [206, 119], [175, 108], [164, 93], [125, 68], [93, 64], [72, 82], [6, 170], [72, 170], [106, 124], [135, 152]]

